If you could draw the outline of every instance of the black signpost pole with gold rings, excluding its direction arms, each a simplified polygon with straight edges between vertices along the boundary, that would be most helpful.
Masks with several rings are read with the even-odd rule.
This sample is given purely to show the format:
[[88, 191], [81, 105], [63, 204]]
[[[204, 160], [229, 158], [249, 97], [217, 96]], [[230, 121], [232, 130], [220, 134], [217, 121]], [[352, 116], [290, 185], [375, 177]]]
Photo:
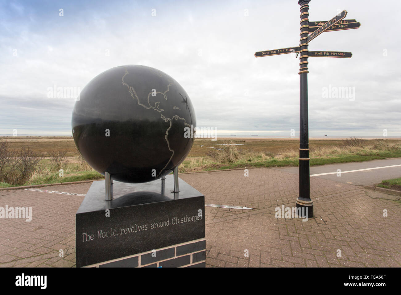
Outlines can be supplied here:
[[[299, 148], [299, 196], [296, 208], [305, 210], [308, 218], [313, 217], [313, 201], [310, 199], [309, 185], [309, 134], [308, 134], [308, 27], [309, 1], [299, 0], [300, 21], [300, 148]], [[305, 208], [305, 209], [302, 209]], [[306, 212], [307, 209], [307, 212]]]

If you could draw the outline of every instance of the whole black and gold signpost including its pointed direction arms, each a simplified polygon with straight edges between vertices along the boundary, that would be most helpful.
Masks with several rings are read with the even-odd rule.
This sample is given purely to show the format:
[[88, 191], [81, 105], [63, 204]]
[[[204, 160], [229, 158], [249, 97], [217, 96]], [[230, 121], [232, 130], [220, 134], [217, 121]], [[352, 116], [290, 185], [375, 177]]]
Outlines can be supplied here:
[[279, 55], [285, 53], [300, 53], [300, 148], [299, 148], [299, 196], [296, 200], [297, 208], [307, 209], [308, 218], [314, 216], [313, 201], [310, 199], [309, 184], [309, 126], [308, 126], [308, 57], [342, 57], [350, 58], [352, 53], [339, 51], [309, 51], [308, 43], [323, 32], [347, 30], [359, 28], [360, 23], [354, 19], [344, 20], [347, 11], [343, 10], [340, 14], [334, 16], [326, 22], [309, 21], [309, 2], [310, 0], [299, 0], [301, 6], [300, 20], [300, 45], [298, 47], [288, 47], [283, 49], [274, 49], [258, 51], [255, 57]]

